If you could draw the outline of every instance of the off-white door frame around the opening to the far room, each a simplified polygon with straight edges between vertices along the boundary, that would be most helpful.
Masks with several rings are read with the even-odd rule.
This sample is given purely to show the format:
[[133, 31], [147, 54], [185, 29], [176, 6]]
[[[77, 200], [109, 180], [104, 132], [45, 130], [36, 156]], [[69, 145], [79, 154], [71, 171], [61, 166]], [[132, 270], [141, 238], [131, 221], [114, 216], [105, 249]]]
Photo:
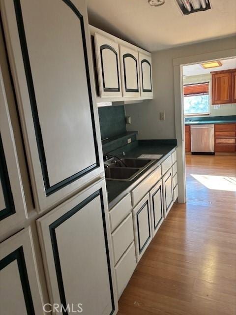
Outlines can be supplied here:
[[185, 134], [183, 114], [183, 76], [184, 65], [207, 63], [216, 60], [236, 58], [236, 48], [217, 52], [200, 54], [173, 59], [174, 93], [175, 93], [175, 128], [177, 139], [177, 172], [178, 172], [178, 202], [186, 202], [186, 163], [185, 163]]

